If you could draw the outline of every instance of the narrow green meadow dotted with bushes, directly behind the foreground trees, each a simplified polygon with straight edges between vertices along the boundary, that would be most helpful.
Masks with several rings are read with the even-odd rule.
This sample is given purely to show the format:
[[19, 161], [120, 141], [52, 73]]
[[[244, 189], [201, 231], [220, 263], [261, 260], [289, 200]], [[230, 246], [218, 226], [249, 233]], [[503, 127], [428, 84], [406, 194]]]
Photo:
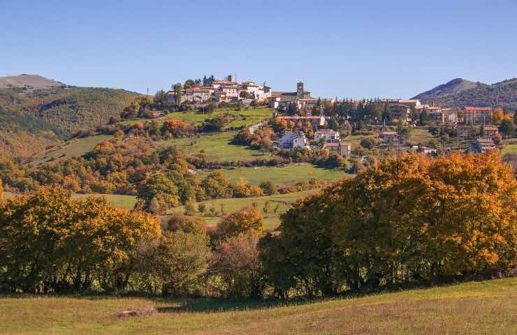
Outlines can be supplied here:
[[[238, 211], [242, 207], [251, 206], [253, 203], [256, 203], [256, 206], [261, 211], [262, 216], [264, 217], [264, 229], [265, 230], [274, 230], [280, 223], [280, 214], [284, 213], [289, 207], [291, 207], [291, 203], [296, 200], [303, 199], [308, 195], [312, 195], [317, 193], [319, 189], [309, 190], [309, 191], [301, 191], [287, 194], [277, 194], [277, 195], [268, 195], [265, 197], [254, 197], [254, 198], [231, 198], [231, 199], [217, 199], [217, 200], [207, 200], [201, 203], [205, 204], [206, 211], [209, 211], [210, 207], [214, 207], [218, 212], [221, 211], [221, 203], [223, 204], [223, 209], [226, 214], [231, 214], [235, 211]], [[268, 213], [264, 213], [264, 204], [265, 202], [269, 202]], [[276, 209], [276, 211], [275, 211]], [[184, 211], [184, 207], [176, 207], [174, 209], [176, 212], [182, 213]], [[196, 214], [201, 216], [201, 214]], [[203, 217], [207, 223], [207, 225], [214, 227], [221, 220], [222, 214], [215, 217]]]

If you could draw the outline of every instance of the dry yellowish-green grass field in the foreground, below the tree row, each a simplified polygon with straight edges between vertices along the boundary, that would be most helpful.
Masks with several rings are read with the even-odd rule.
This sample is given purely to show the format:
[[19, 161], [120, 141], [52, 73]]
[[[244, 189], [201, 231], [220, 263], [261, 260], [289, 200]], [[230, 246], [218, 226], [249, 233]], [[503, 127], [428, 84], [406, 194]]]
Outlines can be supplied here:
[[[129, 308], [159, 313], [117, 318]], [[517, 334], [517, 278], [306, 304], [1, 297], [1, 334]]]

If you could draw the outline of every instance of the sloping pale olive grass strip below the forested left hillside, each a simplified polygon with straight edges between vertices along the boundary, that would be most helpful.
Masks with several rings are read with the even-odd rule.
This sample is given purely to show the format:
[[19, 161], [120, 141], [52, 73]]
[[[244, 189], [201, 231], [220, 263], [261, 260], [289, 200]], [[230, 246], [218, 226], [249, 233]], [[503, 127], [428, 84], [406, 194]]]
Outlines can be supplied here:
[[27, 163], [27, 165], [34, 167], [48, 161], [59, 161], [70, 157], [80, 157], [87, 154], [89, 151], [92, 151], [96, 144], [99, 144], [103, 140], [110, 140], [112, 137], [113, 136], [111, 135], [95, 135], [75, 138], [33, 156], [32, 160]]

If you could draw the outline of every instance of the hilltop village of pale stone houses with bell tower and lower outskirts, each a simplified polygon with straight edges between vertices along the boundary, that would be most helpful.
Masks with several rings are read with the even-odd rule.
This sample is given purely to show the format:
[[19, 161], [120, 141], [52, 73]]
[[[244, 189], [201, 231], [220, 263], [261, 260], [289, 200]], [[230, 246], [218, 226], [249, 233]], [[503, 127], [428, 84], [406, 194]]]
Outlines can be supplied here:
[[[271, 128], [279, 149], [323, 149], [347, 159], [352, 156], [353, 143], [345, 139], [354, 133], [366, 135], [365, 141], [360, 141], [366, 149], [425, 154], [453, 150], [485, 152], [514, 133], [514, 114], [504, 106], [441, 107], [402, 98], [340, 101], [311, 96], [303, 82], [296, 84], [296, 91], [274, 91], [265, 83], [235, 82], [232, 75], [224, 80], [211, 76], [202, 82], [177, 84], [166, 96], [171, 103], [201, 109], [207, 105], [211, 109], [268, 106], [272, 109], [269, 123], [253, 125], [248, 128], [249, 133]], [[420, 134], [415, 136], [420, 140], [425, 140], [425, 133], [435, 138], [415, 141], [412, 133]], [[356, 154], [360, 151], [361, 148], [356, 150]], [[365, 159], [365, 155], [359, 156]]]

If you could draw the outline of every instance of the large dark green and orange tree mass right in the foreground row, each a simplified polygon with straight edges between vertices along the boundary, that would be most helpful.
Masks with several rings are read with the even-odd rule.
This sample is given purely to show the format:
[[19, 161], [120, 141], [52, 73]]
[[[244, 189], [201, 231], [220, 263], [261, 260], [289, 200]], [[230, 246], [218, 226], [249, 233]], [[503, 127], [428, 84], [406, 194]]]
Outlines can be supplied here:
[[279, 295], [450, 278], [517, 264], [517, 182], [498, 151], [388, 158], [293, 205], [263, 261]]

